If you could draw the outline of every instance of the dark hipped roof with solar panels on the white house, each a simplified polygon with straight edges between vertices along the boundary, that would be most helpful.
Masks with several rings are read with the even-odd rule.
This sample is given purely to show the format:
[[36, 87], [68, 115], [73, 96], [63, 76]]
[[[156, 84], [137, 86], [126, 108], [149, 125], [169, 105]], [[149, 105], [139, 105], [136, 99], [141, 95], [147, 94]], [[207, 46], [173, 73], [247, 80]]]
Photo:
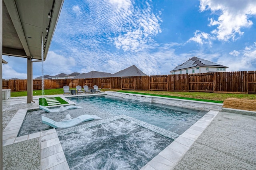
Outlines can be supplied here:
[[171, 70], [171, 72], [176, 70], [184, 70], [186, 68], [198, 67], [198, 66], [228, 68], [227, 66], [223, 66], [208, 60], [200, 59], [198, 57], [192, 57], [185, 63], [176, 66], [173, 70]]

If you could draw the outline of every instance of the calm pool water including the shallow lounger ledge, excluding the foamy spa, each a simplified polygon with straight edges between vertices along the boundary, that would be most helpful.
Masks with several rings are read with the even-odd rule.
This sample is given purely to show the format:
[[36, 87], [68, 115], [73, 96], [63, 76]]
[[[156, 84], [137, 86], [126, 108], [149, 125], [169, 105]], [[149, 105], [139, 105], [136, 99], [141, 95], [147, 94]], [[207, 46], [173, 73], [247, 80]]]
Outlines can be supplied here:
[[[41, 115], [54, 121], [64, 121], [67, 114], [70, 114], [71, 118], [90, 114], [97, 115], [102, 119], [124, 114], [181, 135], [207, 113], [207, 111], [139, 102], [113, 96], [80, 97], [70, 98], [70, 100], [82, 108], [60, 113], [47, 113], [43, 110], [28, 112], [18, 136], [51, 129], [52, 127], [42, 123]], [[84, 123], [90, 122], [92, 121]]]

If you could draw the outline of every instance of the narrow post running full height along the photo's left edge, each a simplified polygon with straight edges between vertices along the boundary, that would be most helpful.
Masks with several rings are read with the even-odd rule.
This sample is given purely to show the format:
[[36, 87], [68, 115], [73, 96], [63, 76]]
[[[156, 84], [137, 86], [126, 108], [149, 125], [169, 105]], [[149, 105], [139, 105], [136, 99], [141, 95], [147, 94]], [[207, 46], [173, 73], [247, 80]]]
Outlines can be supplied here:
[[0, 0], [0, 170], [3, 169], [3, 1]]

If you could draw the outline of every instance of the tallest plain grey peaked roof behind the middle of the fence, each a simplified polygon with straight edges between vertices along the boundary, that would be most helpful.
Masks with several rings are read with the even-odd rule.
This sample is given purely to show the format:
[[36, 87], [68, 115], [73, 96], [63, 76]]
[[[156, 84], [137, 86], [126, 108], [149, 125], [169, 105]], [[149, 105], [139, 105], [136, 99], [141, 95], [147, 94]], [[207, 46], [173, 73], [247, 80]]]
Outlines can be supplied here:
[[126, 76], [146, 76], [138, 67], [132, 65], [124, 70], [116, 72], [112, 77], [126, 77]]

